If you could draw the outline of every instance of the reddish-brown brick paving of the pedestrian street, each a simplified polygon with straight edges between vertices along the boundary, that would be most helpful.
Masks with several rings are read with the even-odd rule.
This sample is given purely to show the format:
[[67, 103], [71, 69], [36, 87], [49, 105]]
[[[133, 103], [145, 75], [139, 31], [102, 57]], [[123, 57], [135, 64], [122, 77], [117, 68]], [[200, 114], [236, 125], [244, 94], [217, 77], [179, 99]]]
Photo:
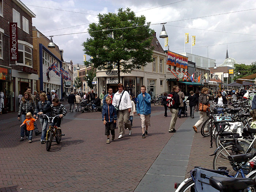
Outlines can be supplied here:
[[[17, 113], [3, 114], [0, 191], [133, 191], [173, 135], [168, 133], [170, 117], [163, 117], [163, 112], [161, 106], [152, 106], [146, 139], [141, 138], [140, 119], [135, 116], [132, 135], [117, 139], [116, 129], [110, 144], [100, 112], [68, 113], [62, 121], [65, 136], [60, 144], [52, 144], [50, 152], [39, 136], [33, 135], [31, 144], [19, 142]], [[178, 118], [176, 128], [186, 119]]]

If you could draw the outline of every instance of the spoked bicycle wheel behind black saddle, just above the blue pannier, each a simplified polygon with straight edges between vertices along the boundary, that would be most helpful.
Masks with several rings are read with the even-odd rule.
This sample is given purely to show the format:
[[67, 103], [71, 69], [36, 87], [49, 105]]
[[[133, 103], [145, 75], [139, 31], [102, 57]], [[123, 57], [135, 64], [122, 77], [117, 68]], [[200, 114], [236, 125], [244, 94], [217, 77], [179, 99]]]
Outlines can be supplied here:
[[[232, 166], [229, 163], [229, 160], [227, 159], [227, 156], [229, 155], [237, 155], [237, 154], [244, 154], [245, 151], [249, 148], [249, 144], [239, 142], [240, 146], [243, 148], [242, 151], [239, 151], [239, 153], [233, 151], [233, 144], [227, 143], [222, 148], [218, 150], [218, 152], [215, 154], [213, 159], [213, 169], [217, 170], [218, 167], [227, 167], [227, 170], [229, 170], [230, 175], [236, 174], [236, 171], [233, 170]], [[255, 148], [252, 148], [248, 153], [256, 152]]]

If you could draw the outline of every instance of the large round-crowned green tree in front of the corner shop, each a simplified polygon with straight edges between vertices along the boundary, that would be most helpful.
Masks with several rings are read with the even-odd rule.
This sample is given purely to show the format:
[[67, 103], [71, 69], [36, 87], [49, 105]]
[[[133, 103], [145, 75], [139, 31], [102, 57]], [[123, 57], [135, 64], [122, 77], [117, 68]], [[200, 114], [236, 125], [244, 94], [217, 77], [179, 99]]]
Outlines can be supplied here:
[[84, 53], [91, 56], [84, 62], [87, 67], [108, 71], [117, 67], [120, 83], [120, 72], [140, 69], [152, 61], [154, 31], [145, 16], [119, 8], [117, 14], [99, 14], [98, 18], [98, 23], [89, 25], [90, 38], [82, 44]]

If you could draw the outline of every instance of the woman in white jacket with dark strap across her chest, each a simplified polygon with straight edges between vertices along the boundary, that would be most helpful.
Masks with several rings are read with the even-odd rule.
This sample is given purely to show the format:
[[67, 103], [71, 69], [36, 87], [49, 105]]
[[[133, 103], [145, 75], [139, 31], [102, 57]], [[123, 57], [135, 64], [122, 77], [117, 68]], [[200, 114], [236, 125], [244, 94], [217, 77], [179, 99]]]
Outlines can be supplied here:
[[[121, 98], [121, 101], [120, 101], [120, 98]], [[112, 105], [114, 105], [115, 107], [118, 107], [119, 105], [117, 122], [118, 122], [118, 131], [120, 135], [118, 138], [121, 139], [124, 136], [125, 128], [129, 129], [129, 135], [131, 135], [132, 128], [131, 128], [131, 122], [129, 121], [129, 118], [130, 118], [130, 113], [132, 108], [132, 102], [131, 102], [129, 93], [124, 90], [124, 85], [122, 83], [118, 84], [118, 91], [114, 94]]]

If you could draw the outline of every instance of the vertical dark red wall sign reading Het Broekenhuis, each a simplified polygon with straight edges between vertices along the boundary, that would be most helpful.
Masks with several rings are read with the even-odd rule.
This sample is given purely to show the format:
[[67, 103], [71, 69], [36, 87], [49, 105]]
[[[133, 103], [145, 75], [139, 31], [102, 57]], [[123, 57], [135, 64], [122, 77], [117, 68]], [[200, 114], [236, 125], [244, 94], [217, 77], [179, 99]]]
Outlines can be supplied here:
[[18, 61], [18, 26], [17, 23], [10, 23], [10, 59]]

